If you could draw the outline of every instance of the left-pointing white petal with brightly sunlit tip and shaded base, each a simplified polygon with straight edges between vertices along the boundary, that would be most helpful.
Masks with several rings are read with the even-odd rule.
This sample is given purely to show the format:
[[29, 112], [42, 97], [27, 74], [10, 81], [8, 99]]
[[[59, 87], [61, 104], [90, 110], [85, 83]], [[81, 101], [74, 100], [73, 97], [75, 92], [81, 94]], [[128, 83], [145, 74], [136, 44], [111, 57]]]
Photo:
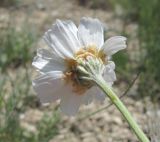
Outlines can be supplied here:
[[[48, 56], [47, 56], [48, 57]], [[47, 59], [47, 57], [36, 56], [33, 59], [32, 65], [41, 73], [50, 71], [64, 71], [66, 69], [65, 62], [63, 60]]]

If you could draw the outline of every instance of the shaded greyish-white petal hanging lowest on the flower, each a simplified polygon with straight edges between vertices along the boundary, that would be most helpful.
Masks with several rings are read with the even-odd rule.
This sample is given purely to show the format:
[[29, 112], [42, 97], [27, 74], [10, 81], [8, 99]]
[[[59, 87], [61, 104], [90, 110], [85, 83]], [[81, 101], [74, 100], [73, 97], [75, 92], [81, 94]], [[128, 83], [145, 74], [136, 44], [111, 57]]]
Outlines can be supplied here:
[[[66, 87], [66, 86], [65, 86]], [[64, 89], [64, 88], [63, 88]], [[66, 87], [64, 89], [64, 94], [62, 95], [61, 102], [60, 102], [60, 108], [61, 111], [69, 116], [75, 115], [79, 107], [82, 103], [83, 95], [77, 95], [72, 91], [71, 86]]]

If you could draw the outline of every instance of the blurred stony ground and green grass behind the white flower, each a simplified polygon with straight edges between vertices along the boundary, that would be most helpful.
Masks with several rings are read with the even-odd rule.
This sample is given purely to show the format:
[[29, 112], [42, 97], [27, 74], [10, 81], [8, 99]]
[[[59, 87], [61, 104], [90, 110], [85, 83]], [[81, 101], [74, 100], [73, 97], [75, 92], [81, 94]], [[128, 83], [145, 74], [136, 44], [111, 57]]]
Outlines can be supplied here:
[[[128, 38], [113, 56], [115, 91], [152, 142], [160, 142], [159, 0], [1, 0], [0, 142], [137, 142], [114, 106], [92, 103], [68, 118], [58, 104], [41, 106], [31, 80], [37, 48], [55, 20], [103, 22], [105, 39]], [[99, 111], [97, 111], [99, 110]]]

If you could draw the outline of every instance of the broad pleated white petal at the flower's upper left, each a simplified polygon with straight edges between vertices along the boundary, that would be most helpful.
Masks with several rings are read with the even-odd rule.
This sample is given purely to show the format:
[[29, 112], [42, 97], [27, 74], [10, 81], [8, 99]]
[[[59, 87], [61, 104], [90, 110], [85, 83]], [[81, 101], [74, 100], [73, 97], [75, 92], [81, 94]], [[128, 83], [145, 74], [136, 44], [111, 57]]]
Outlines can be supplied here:
[[73, 58], [73, 54], [81, 47], [77, 30], [72, 21], [57, 20], [52, 29], [46, 32], [44, 39], [58, 54]]

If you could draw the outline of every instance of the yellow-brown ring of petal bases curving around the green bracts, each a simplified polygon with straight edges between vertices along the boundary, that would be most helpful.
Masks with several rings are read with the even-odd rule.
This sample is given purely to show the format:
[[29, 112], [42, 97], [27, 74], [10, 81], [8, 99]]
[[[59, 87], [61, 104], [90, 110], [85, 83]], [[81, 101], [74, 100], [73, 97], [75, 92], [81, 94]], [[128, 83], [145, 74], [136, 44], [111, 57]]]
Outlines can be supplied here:
[[76, 69], [78, 65], [77, 60], [86, 60], [88, 56], [91, 56], [102, 60], [103, 63], [106, 63], [106, 55], [102, 50], [98, 51], [96, 46], [92, 45], [86, 47], [86, 49], [81, 48], [74, 56], [75, 59], [66, 59], [67, 70], [64, 73], [64, 80], [67, 84], [70, 83], [72, 85], [73, 91], [76, 92], [76, 94], [82, 95], [86, 90], [92, 87], [93, 84], [79, 79], [79, 73]]

